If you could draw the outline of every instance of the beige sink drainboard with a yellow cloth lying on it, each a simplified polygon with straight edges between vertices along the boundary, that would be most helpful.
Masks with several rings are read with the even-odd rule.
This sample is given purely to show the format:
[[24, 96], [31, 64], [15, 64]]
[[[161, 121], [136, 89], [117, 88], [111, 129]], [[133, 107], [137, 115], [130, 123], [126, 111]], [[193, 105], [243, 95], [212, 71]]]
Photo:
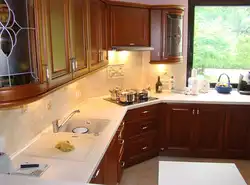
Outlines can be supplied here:
[[[45, 134], [24, 151], [25, 155], [84, 162], [94, 148], [95, 139], [87, 135], [78, 137], [70, 133]], [[75, 146], [71, 152], [55, 148], [59, 141], [70, 141]]]

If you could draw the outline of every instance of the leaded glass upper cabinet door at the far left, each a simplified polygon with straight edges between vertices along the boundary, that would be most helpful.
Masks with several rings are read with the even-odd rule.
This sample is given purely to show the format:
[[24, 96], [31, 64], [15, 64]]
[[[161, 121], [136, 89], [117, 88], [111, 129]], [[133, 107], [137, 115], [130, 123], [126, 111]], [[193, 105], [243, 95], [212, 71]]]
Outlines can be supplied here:
[[35, 0], [0, 0], [0, 87], [39, 82]]

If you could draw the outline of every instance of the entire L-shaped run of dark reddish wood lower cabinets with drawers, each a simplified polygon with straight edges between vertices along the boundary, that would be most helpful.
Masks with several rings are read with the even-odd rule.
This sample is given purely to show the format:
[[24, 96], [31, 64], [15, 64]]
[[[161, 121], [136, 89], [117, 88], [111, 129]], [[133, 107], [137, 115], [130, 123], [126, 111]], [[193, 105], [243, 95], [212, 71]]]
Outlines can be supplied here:
[[250, 106], [160, 104], [129, 110], [91, 183], [158, 155], [250, 159]]

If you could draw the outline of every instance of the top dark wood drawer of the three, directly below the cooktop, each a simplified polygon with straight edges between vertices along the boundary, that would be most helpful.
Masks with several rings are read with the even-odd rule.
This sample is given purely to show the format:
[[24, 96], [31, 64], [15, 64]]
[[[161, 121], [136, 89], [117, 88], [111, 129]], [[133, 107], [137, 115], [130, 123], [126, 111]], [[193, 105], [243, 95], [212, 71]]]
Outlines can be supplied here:
[[135, 121], [139, 119], [146, 119], [156, 117], [157, 105], [141, 107], [138, 109], [129, 110], [124, 118], [125, 121]]

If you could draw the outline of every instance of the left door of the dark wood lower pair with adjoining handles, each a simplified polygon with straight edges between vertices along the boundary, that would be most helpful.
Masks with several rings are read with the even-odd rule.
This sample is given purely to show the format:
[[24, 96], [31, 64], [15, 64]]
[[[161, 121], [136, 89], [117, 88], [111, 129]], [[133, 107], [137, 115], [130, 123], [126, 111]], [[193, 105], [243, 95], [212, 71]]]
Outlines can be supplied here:
[[190, 152], [195, 125], [194, 108], [189, 104], [170, 104], [166, 119], [166, 149]]

